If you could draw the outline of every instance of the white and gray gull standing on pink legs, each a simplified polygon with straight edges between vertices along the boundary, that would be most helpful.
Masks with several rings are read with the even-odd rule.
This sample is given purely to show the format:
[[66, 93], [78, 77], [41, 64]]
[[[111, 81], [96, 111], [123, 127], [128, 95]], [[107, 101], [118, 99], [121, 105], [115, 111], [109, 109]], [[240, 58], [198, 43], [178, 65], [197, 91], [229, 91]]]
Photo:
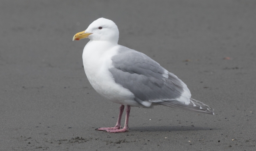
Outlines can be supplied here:
[[[176, 75], [147, 55], [118, 45], [119, 31], [112, 20], [95, 20], [85, 31], [76, 33], [73, 41], [83, 38], [90, 39], [82, 55], [90, 84], [107, 100], [121, 104], [116, 126], [97, 130], [110, 133], [128, 131], [131, 106], [150, 108], [164, 105], [214, 114], [213, 108], [191, 98], [187, 85]], [[124, 106], [126, 119], [122, 128]]]

